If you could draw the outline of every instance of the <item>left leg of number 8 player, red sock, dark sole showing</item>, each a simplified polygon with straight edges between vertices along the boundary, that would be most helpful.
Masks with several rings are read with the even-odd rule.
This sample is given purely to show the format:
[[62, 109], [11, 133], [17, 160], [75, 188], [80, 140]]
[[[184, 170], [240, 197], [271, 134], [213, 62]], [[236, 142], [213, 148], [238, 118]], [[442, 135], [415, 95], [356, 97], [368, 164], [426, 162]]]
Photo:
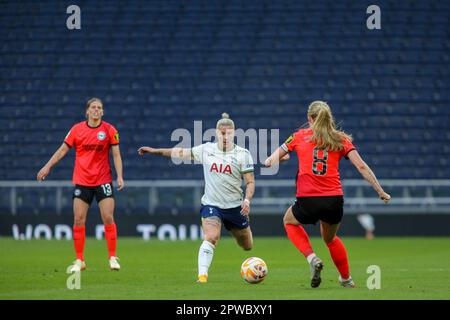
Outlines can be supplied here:
[[295, 218], [292, 212], [292, 207], [286, 210], [283, 218], [284, 228], [291, 242], [297, 247], [297, 249], [305, 256], [309, 263], [309, 270], [311, 273], [311, 287], [317, 288], [322, 282], [320, 274], [323, 269], [323, 262], [314, 253], [311, 244], [309, 242], [308, 234], [301, 225], [301, 223]]

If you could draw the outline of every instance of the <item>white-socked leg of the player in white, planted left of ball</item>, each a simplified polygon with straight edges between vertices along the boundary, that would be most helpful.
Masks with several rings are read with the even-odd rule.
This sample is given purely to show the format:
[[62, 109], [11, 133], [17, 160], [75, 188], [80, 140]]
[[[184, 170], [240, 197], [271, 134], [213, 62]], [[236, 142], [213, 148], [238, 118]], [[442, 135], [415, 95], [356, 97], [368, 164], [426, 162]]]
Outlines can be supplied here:
[[222, 221], [219, 217], [202, 218], [203, 242], [198, 251], [198, 280], [199, 283], [208, 281], [208, 270], [214, 256], [214, 249], [220, 239]]

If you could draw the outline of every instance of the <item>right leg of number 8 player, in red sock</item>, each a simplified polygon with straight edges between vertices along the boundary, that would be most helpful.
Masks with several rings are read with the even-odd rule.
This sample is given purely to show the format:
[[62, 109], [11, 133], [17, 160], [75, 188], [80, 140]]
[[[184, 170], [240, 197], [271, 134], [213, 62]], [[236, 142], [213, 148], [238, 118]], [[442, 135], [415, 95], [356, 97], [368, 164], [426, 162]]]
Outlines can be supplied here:
[[320, 222], [320, 233], [323, 240], [330, 250], [331, 258], [339, 271], [339, 283], [346, 288], [354, 288], [355, 283], [350, 276], [350, 269], [348, 266], [348, 257], [345, 246], [341, 239], [336, 236], [340, 224], [329, 224], [324, 221]]

